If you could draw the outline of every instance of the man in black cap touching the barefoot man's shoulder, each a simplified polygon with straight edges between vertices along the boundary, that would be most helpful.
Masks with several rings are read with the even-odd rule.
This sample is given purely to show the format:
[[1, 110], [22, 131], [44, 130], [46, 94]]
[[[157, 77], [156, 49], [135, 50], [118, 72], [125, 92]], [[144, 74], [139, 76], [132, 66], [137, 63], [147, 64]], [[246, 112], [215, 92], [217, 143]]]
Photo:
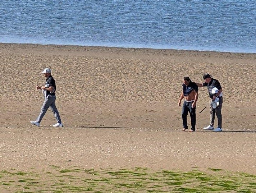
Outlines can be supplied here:
[[[222, 88], [218, 80], [211, 78], [211, 75], [206, 73], [203, 75], [203, 79], [205, 80], [204, 83], [196, 83], [198, 87], [206, 87], [209, 91], [209, 96], [212, 99], [211, 106], [210, 106], [210, 125], [205, 127], [205, 130], [212, 130], [215, 132], [222, 131], [222, 115], [221, 115], [221, 108], [223, 103], [222, 98]], [[218, 127], [214, 129], [214, 119], [215, 114], [218, 119]]]

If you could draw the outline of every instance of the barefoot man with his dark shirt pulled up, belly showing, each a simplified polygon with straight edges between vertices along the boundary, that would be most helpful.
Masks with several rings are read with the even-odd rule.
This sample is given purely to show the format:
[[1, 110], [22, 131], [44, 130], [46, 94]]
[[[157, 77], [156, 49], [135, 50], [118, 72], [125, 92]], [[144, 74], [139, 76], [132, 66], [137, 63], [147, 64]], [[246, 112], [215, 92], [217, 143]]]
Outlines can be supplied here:
[[191, 118], [191, 130], [189, 131], [193, 132], [196, 131], [196, 101], [198, 99], [198, 86], [195, 82], [192, 82], [189, 77], [184, 77], [183, 80], [183, 91], [179, 98], [179, 106], [181, 106], [182, 99], [185, 98], [182, 106], [183, 131], [188, 129], [187, 115], [189, 112]]

